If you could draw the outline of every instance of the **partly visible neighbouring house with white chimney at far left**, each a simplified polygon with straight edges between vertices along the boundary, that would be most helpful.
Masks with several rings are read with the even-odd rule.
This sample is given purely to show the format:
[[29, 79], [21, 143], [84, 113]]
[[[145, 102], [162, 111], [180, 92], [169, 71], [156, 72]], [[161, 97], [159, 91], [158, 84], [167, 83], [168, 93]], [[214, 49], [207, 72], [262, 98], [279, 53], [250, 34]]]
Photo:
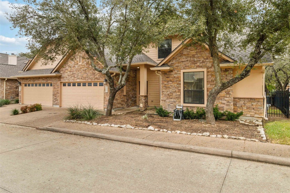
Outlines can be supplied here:
[[19, 86], [17, 78], [11, 76], [16, 75], [28, 62], [29, 58], [17, 57], [14, 54], [0, 53], [0, 98], [16, 99], [19, 95]]

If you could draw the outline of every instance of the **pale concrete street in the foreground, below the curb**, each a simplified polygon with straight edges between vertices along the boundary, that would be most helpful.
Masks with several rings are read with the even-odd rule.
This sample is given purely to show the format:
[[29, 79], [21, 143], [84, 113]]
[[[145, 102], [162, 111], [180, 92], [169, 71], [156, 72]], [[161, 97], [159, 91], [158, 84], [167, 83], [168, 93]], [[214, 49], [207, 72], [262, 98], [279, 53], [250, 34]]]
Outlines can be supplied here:
[[286, 166], [3, 123], [0, 162], [1, 193], [290, 192]]

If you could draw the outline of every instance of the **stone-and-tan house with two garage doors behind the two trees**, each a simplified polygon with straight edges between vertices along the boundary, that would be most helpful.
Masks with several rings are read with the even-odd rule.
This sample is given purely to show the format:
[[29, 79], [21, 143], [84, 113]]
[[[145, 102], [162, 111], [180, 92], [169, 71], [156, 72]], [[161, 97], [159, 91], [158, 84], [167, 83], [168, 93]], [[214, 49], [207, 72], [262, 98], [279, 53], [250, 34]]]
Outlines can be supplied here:
[[[191, 39], [182, 42], [171, 36], [158, 48], [152, 46], [148, 52], [135, 56], [126, 86], [117, 93], [113, 108], [139, 105], [145, 110], [147, 106], [162, 105], [173, 111], [176, 104], [190, 109], [204, 108], [215, 84], [213, 63], [206, 45], [185, 46], [190, 42]], [[220, 52], [223, 80], [240, 71], [232, 66], [240, 58], [247, 61], [250, 51]], [[107, 63], [112, 65], [109, 59]], [[269, 64], [272, 64], [271, 57], [264, 57], [263, 64], [255, 65], [249, 77], [220, 93], [216, 100], [220, 110], [244, 111], [247, 117], [264, 117], [264, 65]], [[126, 64], [123, 66], [126, 69]], [[116, 69], [112, 68], [110, 73], [118, 80]], [[13, 77], [22, 83], [19, 89], [22, 104], [67, 107], [90, 103], [106, 110], [109, 89], [104, 84], [105, 76], [90, 66], [84, 52], [60, 56], [49, 65], [43, 65], [36, 56]]]

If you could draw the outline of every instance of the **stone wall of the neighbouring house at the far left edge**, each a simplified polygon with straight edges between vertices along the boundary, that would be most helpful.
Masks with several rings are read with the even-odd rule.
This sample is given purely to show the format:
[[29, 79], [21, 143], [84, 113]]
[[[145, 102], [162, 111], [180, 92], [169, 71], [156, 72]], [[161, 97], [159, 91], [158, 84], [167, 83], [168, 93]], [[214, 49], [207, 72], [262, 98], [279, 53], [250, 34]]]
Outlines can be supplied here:
[[[5, 79], [0, 79], [0, 98], [4, 99], [4, 80]], [[15, 99], [18, 98], [18, 80], [13, 80], [13, 79], [7, 79], [6, 80], [6, 94], [5, 98], [6, 99]]]

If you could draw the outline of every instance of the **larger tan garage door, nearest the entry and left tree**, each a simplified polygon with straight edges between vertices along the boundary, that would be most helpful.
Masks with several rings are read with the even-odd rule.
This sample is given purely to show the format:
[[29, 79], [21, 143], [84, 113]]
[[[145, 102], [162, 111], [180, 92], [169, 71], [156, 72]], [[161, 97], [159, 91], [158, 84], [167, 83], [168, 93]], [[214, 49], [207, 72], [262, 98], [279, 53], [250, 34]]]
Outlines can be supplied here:
[[104, 109], [104, 82], [62, 82], [61, 106], [91, 104]]

